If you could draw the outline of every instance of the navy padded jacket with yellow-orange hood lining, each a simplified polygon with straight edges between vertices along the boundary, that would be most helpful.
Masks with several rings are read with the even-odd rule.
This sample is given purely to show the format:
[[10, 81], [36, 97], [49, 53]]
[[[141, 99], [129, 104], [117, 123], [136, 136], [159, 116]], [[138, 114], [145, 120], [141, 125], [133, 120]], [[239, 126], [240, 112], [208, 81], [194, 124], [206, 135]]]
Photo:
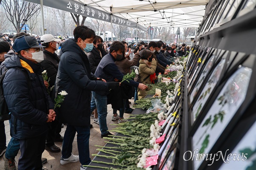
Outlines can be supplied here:
[[[47, 131], [47, 114], [54, 108], [41, 76], [44, 70], [40, 64], [17, 55], [7, 55], [5, 66], [8, 71], [3, 80], [3, 91], [11, 112], [11, 134], [17, 139], [40, 136]], [[31, 80], [30, 85], [26, 74]]]

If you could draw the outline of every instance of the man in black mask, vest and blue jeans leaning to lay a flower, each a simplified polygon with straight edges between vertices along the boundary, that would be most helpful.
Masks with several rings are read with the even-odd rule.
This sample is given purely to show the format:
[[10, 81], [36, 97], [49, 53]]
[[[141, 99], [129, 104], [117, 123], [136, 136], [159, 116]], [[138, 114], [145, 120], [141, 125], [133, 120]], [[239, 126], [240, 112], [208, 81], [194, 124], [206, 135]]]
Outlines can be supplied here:
[[[109, 50], [109, 54], [106, 55], [105, 57], [102, 58], [100, 61], [95, 75], [96, 77], [102, 77], [105, 79], [107, 82], [114, 82], [115, 79], [117, 79], [119, 82], [122, 81], [124, 75], [119, 71], [117, 65], [115, 64], [116, 61], [122, 60], [124, 57], [124, 52], [125, 52], [125, 45], [122, 42], [119, 41], [114, 41]], [[131, 85], [134, 87], [138, 87], [140, 89], [145, 90], [148, 88], [146, 85], [143, 85], [143, 83], [138, 83], [133, 80], [124, 81], [122, 82], [127, 85]], [[108, 114], [108, 109], [107, 109], [107, 100], [110, 99], [109, 95], [111, 94], [112, 91], [93, 91], [93, 97], [95, 99], [96, 105], [91, 105], [91, 111], [97, 107], [98, 115], [99, 115], [99, 129], [101, 131], [101, 138], [103, 137], [108, 137], [108, 135], [113, 135], [108, 131], [108, 126], [107, 126], [107, 114]], [[116, 107], [113, 106], [112, 108], [122, 108], [123, 106], [123, 101], [122, 101], [122, 96], [119, 96], [117, 94], [113, 95], [113, 104], [118, 104]], [[120, 99], [121, 98], [121, 99]], [[120, 112], [121, 113], [121, 112]], [[112, 121], [119, 120], [123, 117], [123, 115], [117, 115], [116, 113], [113, 114], [112, 116]]]

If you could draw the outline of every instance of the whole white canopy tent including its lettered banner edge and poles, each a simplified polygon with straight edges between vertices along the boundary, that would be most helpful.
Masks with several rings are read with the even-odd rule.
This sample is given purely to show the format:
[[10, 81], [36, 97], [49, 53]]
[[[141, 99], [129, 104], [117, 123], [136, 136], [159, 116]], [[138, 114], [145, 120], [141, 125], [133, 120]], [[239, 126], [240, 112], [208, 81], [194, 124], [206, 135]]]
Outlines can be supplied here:
[[[26, 0], [147, 31], [156, 27], [199, 27], [209, 0]], [[72, 2], [72, 3], [70, 3]], [[77, 3], [76, 3], [77, 2]], [[92, 12], [93, 11], [93, 12]], [[99, 17], [96, 17], [98, 14]], [[42, 10], [42, 16], [43, 10]], [[43, 29], [44, 20], [42, 19]], [[113, 35], [113, 33], [111, 34]], [[112, 36], [111, 36], [112, 37]], [[136, 35], [137, 37], [137, 35]], [[113, 37], [111, 38], [113, 40]]]

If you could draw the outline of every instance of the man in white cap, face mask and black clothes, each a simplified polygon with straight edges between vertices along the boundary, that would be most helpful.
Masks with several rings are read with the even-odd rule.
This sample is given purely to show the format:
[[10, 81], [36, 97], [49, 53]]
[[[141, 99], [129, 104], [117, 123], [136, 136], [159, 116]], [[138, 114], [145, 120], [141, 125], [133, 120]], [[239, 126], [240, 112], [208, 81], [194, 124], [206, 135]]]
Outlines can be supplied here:
[[[55, 51], [58, 50], [58, 42], [61, 40], [56, 39], [52, 34], [44, 34], [40, 41], [42, 45], [45, 46], [43, 49], [44, 61], [41, 62], [41, 65], [43, 65], [44, 69], [47, 71], [49, 80], [48, 89], [51, 89], [55, 84], [55, 79], [58, 72], [58, 63], [60, 62], [60, 59]], [[50, 91], [49, 95], [52, 96], [52, 91]], [[58, 119], [56, 119], [55, 121], [49, 122], [48, 124], [49, 129], [47, 133], [45, 149], [54, 153], [60, 152], [61, 149], [56, 146], [54, 142], [63, 141], [63, 137], [60, 135], [61, 123], [58, 121]]]

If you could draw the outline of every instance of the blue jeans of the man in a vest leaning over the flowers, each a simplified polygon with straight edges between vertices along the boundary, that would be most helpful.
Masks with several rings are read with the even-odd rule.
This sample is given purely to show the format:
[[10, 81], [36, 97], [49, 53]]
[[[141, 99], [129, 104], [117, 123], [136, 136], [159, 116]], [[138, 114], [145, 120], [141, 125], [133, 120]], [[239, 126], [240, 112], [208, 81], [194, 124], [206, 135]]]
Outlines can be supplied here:
[[101, 131], [102, 135], [108, 133], [108, 126], [107, 126], [107, 114], [108, 114], [108, 97], [101, 96], [96, 94], [93, 91], [93, 98], [95, 100], [95, 105], [92, 105], [91, 102], [91, 112], [97, 107], [98, 111], [98, 118], [99, 118], [99, 130]]

